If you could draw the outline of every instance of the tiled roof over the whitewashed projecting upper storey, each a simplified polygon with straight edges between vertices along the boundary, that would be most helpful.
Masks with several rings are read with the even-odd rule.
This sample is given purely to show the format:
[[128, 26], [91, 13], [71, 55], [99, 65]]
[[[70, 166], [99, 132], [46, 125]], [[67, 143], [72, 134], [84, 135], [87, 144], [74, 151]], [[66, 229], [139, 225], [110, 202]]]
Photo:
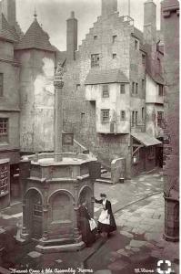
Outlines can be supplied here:
[[126, 75], [118, 68], [115, 69], [91, 69], [85, 79], [85, 85], [106, 83], [128, 83]]

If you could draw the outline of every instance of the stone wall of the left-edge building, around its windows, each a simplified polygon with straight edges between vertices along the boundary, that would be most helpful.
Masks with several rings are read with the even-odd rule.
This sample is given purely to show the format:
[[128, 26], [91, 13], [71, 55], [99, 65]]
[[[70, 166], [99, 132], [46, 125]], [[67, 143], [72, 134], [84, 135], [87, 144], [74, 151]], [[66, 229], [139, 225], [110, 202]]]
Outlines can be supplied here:
[[0, 73], [3, 73], [3, 97], [0, 100], [0, 117], [8, 119], [8, 137], [0, 143], [0, 159], [10, 158], [18, 163], [19, 156], [19, 64], [14, 60], [14, 45], [0, 41]]

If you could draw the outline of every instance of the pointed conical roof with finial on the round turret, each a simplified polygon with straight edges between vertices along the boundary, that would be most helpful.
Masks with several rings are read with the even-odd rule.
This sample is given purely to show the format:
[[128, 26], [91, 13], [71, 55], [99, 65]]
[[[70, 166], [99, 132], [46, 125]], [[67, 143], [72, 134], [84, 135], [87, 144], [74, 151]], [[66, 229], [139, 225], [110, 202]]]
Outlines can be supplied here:
[[55, 52], [55, 47], [53, 47], [49, 42], [49, 36], [39, 25], [36, 18], [26, 31], [25, 36], [22, 37], [19, 43], [15, 46], [15, 49], [28, 48], [37, 48]]

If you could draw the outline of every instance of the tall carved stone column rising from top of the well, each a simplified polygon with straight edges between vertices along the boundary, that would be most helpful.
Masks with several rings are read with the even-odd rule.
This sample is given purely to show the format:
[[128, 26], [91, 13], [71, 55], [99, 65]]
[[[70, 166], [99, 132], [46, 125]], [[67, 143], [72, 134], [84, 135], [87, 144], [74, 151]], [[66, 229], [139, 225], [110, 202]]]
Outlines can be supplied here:
[[63, 131], [63, 73], [64, 68], [58, 64], [55, 72], [55, 162], [62, 161], [62, 131]]

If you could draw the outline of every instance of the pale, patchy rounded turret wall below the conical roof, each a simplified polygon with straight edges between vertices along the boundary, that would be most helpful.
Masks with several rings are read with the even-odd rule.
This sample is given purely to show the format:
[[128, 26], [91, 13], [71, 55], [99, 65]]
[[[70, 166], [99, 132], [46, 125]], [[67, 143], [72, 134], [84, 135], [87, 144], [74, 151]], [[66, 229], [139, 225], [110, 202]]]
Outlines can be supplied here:
[[44, 50], [15, 53], [21, 62], [20, 143], [22, 152], [54, 150], [55, 54]]

